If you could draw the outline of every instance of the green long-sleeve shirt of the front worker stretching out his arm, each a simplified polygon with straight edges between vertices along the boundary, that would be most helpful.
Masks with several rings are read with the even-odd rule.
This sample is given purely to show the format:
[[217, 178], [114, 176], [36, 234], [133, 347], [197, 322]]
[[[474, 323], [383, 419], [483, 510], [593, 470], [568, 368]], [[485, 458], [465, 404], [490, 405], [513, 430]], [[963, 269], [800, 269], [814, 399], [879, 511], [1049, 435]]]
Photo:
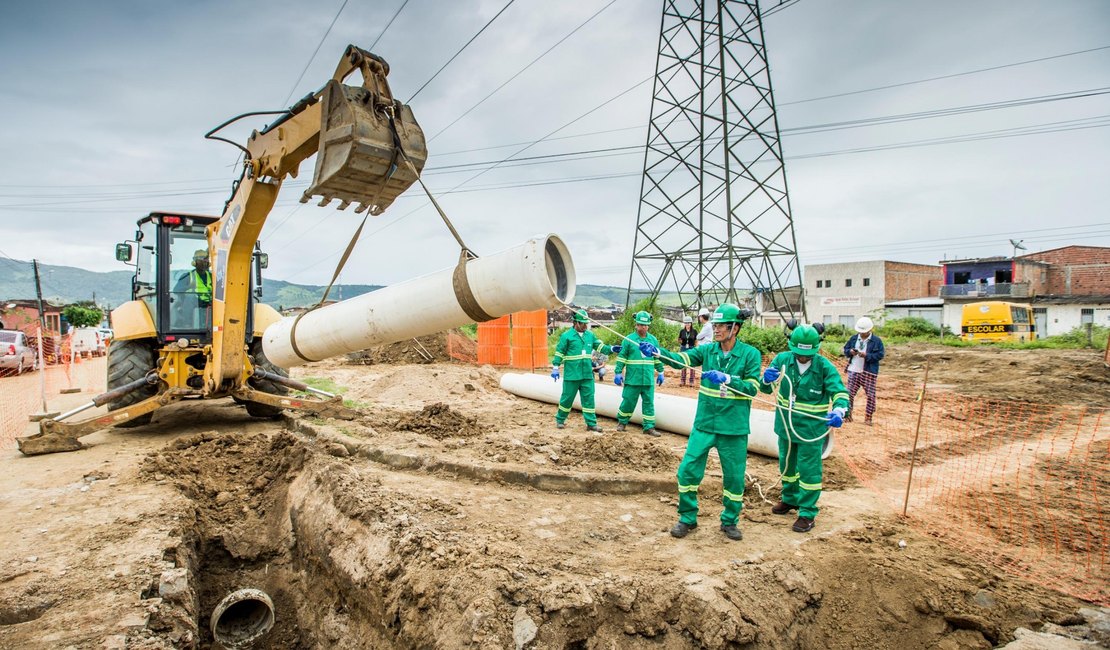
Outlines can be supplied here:
[[[697, 415], [694, 426], [707, 434], [719, 436], [746, 436], [751, 430], [748, 417], [751, 414], [751, 397], [759, 388], [759, 351], [746, 343], [736, 342], [733, 349], [720, 349], [719, 343], [706, 343], [686, 352], [659, 349], [664, 364], [680, 368], [683, 364], [702, 368], [702, 386], [698, 388]], [[679, 363], [680, 362], [680, 363]], [[705, 373], [720, 370], [728, 375], [728, 387], [722, 396], [720, 387], [705, 378]]]

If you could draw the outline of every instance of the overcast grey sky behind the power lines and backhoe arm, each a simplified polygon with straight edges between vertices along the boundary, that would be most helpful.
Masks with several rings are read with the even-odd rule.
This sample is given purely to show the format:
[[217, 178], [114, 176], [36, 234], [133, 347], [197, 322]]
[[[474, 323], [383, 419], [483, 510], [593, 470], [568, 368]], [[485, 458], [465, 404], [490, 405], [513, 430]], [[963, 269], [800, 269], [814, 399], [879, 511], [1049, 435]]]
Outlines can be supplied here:
[[[7, 2], [0, 255], [124, 268], [113, 244], [147, 212], [222, 210], [238, 151], [203, 140], [209, 129], [319, 89], [347, 43], [373, 45], [407, 101], [507, 1]], [[642, 151], [505, 164], [473, 180], [475, 167], [447, 167], [643, 146], [650, 82], [594, 109], [654, 74], [662, 6], [516, 0], [415, 98], [426, 182], [472, 248], [552, 232], [579, 283], [627, 284]], [[1030, 252], [1110, 245], [1107, 0], [799, 0], [768, 16], [765, 32], [803, 266], [1009, 255], [1011, 237]], [[908, 83], [938, 77], [948, 78]], [[1015, 100], [1032, 101], [790, 133]], [[225, 134], [244, 141], [264, 122]], [[324, 284], [359, 217], [297, 207], [303, 166], [263, 231], [268, 275]], [[454, 240], [417, 190], [370, 221], [341, 282], [454, 264]]]

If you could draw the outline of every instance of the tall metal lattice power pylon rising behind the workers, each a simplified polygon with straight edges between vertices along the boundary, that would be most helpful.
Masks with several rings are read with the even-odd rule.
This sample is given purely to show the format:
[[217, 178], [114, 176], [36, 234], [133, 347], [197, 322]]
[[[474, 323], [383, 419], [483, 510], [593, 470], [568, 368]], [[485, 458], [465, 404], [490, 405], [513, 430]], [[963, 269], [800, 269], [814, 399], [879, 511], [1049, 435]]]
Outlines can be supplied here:
[[[795, 316], [797, 244], [757, 0], [664, 0], [627, 303]], [[634, 283], [647, 290], [634, 290]], [[800, 311], [800, 309], [799, 309]]]

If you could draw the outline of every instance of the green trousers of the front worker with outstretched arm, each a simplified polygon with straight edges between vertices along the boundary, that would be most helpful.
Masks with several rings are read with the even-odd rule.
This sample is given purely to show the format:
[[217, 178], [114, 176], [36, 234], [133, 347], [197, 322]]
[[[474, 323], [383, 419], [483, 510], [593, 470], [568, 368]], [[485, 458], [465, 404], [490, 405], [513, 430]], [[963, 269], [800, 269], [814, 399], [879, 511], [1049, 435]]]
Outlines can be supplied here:
[[723, 526], [736, 526], [744, 508], [744, 473], [748, 464], [748, 437], [705, 434], [695, 427], [686, 443], [686, 454], [678, 465], [678, 520], [687, 526], [697, 524], [697, 488], [705, 477], [709, 449], [716, 447], [725, 475], [720, 512]]

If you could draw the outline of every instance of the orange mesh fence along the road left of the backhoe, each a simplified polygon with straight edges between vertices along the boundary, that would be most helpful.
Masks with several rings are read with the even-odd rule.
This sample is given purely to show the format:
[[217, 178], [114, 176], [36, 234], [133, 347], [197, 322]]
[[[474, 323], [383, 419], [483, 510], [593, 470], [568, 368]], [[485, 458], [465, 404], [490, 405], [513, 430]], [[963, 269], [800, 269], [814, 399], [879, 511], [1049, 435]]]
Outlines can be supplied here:
[[[32, 342], [38, 357], [38, 341]], [[30, 417], [56, 407], [62, 393], [83, 393], [91, 398], [107, 390], [107, 357], [97, 351], [82, 358], [73, 354], [71, 343], [68, 335], [48, 335], [42, 352], [46, 363], [36, 359], [33, 366], [24, 365], [22, 373], [18, 366], [0, 367], [0, 448], [14, 447]]]

